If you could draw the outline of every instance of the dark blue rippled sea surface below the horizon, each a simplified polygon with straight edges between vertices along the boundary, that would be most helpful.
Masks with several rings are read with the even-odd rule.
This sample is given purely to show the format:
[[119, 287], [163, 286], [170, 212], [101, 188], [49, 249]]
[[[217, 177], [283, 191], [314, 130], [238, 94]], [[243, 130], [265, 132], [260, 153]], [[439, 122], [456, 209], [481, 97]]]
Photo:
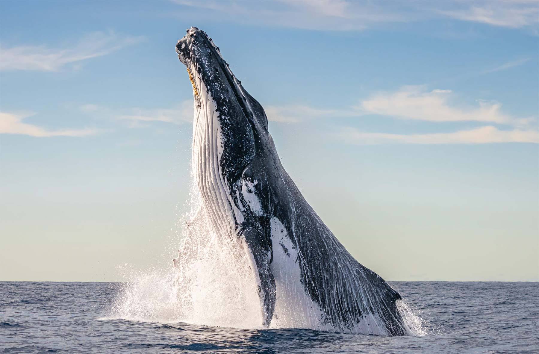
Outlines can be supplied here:
[[0, 352], [539, 353], [539, 283], [390, 283], [426, 336], [102, 320], [121, 284], [0, 282]]

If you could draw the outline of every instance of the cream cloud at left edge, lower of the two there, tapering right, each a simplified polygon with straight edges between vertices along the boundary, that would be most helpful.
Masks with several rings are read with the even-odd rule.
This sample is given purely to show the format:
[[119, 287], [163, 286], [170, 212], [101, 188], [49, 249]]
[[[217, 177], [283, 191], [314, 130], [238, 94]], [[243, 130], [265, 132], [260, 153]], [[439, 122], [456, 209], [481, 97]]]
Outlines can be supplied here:
[[19, 134], [36, 137], [47, 136], [87, 136], [98, 133], [97, 129], [55, 129], [50, 130], [34, 124], [24, 123], [23, 120], [35, 113], [8, 113], [0, 112], [0, 133]]

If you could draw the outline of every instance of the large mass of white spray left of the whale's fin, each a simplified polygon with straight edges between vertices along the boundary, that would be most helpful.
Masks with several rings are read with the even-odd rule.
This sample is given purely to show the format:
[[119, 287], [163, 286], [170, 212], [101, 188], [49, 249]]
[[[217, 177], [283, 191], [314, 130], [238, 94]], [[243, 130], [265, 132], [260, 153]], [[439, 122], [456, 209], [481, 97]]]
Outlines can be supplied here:
[[[189, 225], [174, 265], [125, 271], [111, 315], [134, 321], [260, 327], [260, 301], [246, 255], [205, 230], [203, 216]], [[202, 222], [201, 222], [202, 219]]]

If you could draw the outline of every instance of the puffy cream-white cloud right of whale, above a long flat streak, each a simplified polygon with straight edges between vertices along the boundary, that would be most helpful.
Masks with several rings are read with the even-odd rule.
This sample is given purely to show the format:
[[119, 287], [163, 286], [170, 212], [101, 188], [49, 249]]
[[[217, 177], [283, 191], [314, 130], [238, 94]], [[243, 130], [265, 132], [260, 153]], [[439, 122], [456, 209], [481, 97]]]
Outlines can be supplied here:
[[357, 108], [370, 114], [431, 122], [477, 121], [519, 125], [531, 120], [502, 113], [499, 102], [479, 101], [476, 107], [451, 105], [451, 94], [450, 90], [427, 91], [425, 86], [403, 86], [396, 92], [371, 96]]

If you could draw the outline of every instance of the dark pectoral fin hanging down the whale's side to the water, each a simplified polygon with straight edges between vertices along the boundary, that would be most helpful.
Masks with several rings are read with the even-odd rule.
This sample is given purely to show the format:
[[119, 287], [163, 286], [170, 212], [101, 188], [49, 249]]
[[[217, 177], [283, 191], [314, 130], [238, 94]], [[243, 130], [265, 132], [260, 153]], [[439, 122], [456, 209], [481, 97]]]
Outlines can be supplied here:
[[268, 327], [275, 308], [275, 278], [269, 264], [271, 263], [272, 247], [264, 240], [262, 234], [255, 228], [249, 227], [243, 232], [245, 242], [252, 254], [252, 261], [256, 267], [255, 276], [258, 275], [258, 296], [262, 305], [262, 325]]

